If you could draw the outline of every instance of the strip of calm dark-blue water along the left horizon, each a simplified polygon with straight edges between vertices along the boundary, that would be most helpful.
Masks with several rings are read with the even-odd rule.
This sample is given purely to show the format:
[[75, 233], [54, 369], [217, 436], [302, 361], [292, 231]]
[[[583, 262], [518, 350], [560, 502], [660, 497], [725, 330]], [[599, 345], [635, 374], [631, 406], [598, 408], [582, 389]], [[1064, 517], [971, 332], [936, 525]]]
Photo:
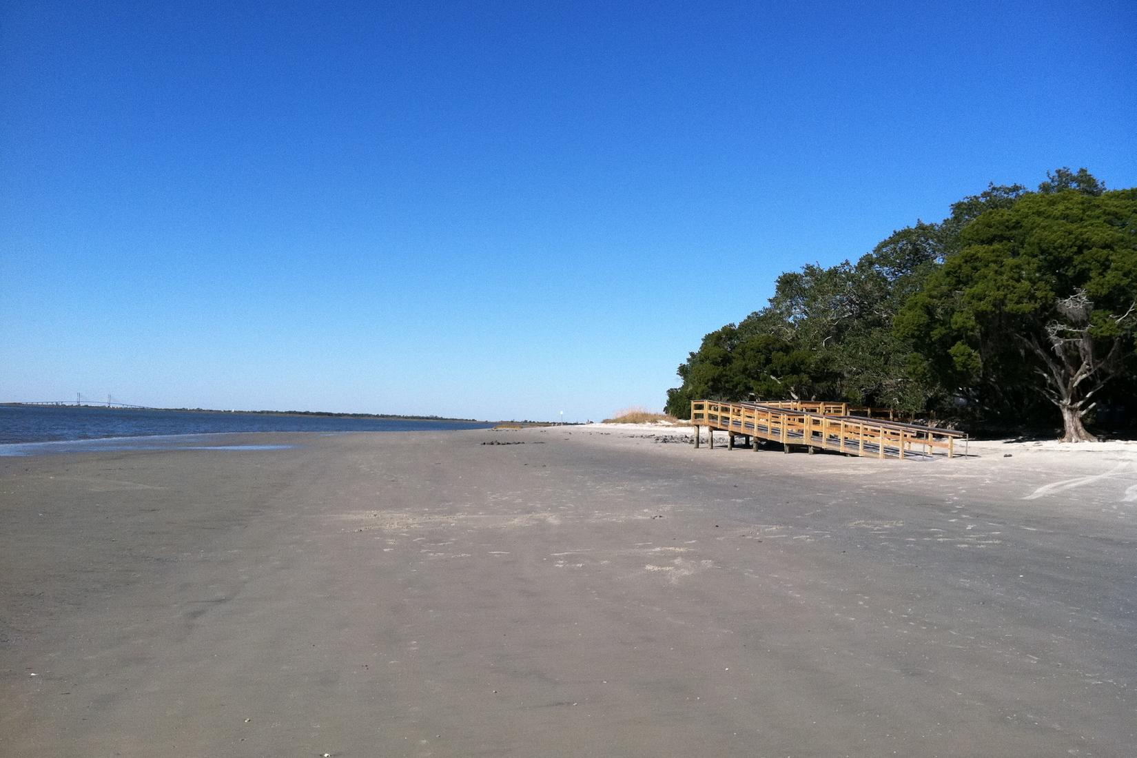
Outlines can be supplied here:
[[489, 428], [490, 426], [492, 424], [473, 422], [199, 414], [185, 410], [130, 410], [66, 406], [32, 408], [0, 406], [0, 445], [8, 448], [34, 442], [231, 432], [439, 432]]

